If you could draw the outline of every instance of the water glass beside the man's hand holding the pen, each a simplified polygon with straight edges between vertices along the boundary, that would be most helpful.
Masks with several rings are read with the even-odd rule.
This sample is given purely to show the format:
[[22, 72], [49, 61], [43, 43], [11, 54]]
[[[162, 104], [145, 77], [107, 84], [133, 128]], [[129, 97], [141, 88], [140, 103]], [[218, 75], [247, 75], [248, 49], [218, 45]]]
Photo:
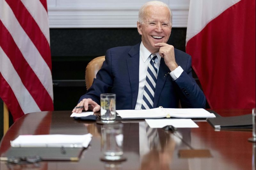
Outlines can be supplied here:
[[100, 117], [105, 123], [114, 122], [116, 119], [116, 94], [100, 94]]

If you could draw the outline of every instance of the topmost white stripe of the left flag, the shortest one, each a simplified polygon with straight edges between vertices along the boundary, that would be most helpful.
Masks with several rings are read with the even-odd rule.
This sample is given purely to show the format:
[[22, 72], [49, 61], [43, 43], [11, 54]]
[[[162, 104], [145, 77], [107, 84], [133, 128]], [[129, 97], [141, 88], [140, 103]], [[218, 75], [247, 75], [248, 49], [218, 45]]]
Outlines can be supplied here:
[[30, 15], [35, 19], [37, 25], [50, 45], [48, 14], [43, 4], [39, 0], [21, 0], [21, 2], [27, 8]]

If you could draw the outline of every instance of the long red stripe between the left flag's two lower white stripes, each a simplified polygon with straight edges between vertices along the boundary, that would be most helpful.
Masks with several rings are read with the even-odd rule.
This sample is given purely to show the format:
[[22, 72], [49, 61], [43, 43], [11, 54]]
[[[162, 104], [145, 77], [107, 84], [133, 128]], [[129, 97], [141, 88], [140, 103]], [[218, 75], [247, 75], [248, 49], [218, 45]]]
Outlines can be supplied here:
[[[52, 110], [53, 106], [51, 96], [45, 90], [34, 71], [24, 59], [11, 34], [8, 32], [1, 20], [0, 37], [0, 46], [11, 60], [12, 65], [20, 76], [23, 85], [34, 98], [40, 110]], [[8, 42], [8, 44], [6, 42]]]

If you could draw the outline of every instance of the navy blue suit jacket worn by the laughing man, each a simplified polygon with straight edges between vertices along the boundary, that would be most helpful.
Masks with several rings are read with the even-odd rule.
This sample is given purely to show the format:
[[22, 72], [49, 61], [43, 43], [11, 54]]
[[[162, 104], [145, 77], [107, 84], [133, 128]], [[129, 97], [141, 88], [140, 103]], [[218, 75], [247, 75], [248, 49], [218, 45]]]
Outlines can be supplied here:
[[[108, 49], [105, 61], [94, 78], [91, 88], [79, 102], [91, 98], [100, 105], [101, 93], [116, 94], [116, 109], [134, 109], [139, 91], [140, 43]], [[154, 108], [204, 108], [205, 96], [191, 73], [191, 56], [174, 49], [175, 60], [184, 70], [175, 81], [161, 59], [156, 81]]]

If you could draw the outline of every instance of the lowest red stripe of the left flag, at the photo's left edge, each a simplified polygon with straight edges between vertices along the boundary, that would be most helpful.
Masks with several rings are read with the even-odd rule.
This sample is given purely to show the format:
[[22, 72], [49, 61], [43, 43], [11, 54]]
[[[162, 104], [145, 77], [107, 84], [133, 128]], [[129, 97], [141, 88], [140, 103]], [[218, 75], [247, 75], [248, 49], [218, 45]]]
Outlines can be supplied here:
[[0, 96], [4, 103], [7, 105], [9, 110], [12, 113], [13, 120], [16, 121], [19, 119], [22, 115], [24, 115], [18, 100], [16, 99], [14, 93], [12, 92], [12, 88], [9, 86], [9, 84], [5, 81], [4, 77], [2, 76], [0, 72]]

